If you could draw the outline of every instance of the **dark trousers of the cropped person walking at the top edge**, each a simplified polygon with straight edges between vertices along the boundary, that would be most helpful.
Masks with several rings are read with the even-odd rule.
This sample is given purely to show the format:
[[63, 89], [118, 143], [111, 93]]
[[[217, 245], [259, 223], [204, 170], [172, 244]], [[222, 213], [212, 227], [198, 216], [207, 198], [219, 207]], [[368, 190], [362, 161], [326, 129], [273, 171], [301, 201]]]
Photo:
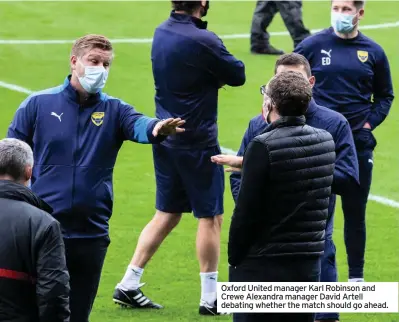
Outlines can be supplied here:
[[305, 28], [302, 20], [302, 1], [257, 1], [251, 26], [252, 50], [261, 50], [269, 46], [270, 35], [267, 27], [277, 12], [280, 12], [283, 18], [294, 41], [294, 47], [310, 36], [310, 31]]

